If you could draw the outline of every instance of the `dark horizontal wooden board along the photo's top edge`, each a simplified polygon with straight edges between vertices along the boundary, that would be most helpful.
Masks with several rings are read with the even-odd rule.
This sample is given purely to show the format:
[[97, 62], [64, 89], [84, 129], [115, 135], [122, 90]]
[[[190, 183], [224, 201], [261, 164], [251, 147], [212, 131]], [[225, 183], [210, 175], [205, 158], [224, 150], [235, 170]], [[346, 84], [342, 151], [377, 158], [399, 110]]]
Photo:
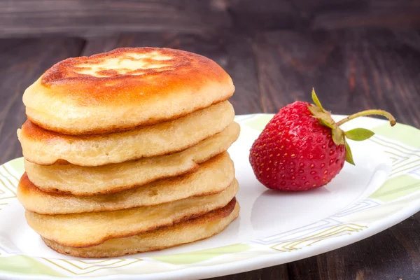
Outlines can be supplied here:
[[0, 38], [420, 27], [418, 0], [0, 0]]

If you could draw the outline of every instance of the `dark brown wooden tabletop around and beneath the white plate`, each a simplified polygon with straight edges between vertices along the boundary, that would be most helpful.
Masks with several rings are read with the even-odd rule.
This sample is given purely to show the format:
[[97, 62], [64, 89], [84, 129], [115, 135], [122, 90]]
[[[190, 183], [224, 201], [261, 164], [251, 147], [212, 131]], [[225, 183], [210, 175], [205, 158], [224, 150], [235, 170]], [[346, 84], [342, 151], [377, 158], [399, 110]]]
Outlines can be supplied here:
[[[222, 5], [220, 10], [225, 8], [226, 1], [212, 2]], [[363, 18], [365, 15], [357, 14], [349, 21], [341, 14], [316, 13], [311, 18], [306, 10], [299, 14], [300, 23], [296, 23], [295, 17], [273, 20], [274, 15], [268, 13], [270, 8], [266, 8], [264, 16], [258, 16], [247, 7], [230, 7], [234, 18], [230, 28], [222, 28], [226, 18], [219, 15], [218, 29], [205, 32], [202, 25], [194, 22], [184, 22], [176, 30], [156, 27], [155, 31], [135, 33], [127, 33], [131, 29], [123, 27], [120, 28], [124, 32], [116, 31], [112, 25], [112, 34], [96, 30], [97, 36], [80, 38], [75, 36], [82, 30], [79, 27], [65, 29], [70, 31], [58, 36], [57, 24], [58, 27], [52, 25], [44, 32], [54, 36], [45, 37], [34, 34], [31, 25], [20, 28], [16, 22], [21, 20], [16, 20], [16, 25], [3, 24], [0, 163], [22, 155], [16, 129], [26, 118], [22, 93], [28, 85], [61, 59], [125, 46], [181, 48], [214, 59], [234, 80], [237, 90], [232, 104], [237, 114], [274, 113], [296, 99], [310, 101], [311, 87], [315, 87], [323, 106], [333, 113], [379, 108], [393, 113], [400, 123], [420, 127], [419, 13], [409, 8], [410, 13], [405, 15], [398, 10], [392, 13], [393, 17], [374, 15], [374, 20], [370, 17], [369, 21]], [[282, 11], [277, 6], [271, 9], [276, 15]], [[13, 15], [8, 16], [13, 22]], [[305, 28], [308, 17], [314, 28]], [[19, 19], [18, 15], [15, 19]], [[253, 25], [248, 26], [250, 19]], [[215, 22], [211, 15], [205, 20]], [[395, 25], [412, 27], [413, 20], [416, 29], [389, 29]], [[365, 22], [363, 27], [357, 24], [360, 21]], [[295, 28], [286, 28], [290, 22]], [[0, 17], [1, 23], [4, 18]], [[12, 35], [6, 36], [7, 32]], [[22, 37], [23, 32], [33, 38], [6, 38]], [[384, 232], [335, 251], [215, 279], [420, 279], [420, 212]]]

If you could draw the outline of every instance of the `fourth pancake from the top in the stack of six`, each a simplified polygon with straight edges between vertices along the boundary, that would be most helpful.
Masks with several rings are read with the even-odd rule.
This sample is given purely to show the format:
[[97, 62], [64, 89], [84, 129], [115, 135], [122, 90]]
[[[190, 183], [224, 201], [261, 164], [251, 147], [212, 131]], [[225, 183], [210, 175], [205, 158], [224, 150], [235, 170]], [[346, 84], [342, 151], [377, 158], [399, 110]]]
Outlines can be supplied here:
[[25, 209], [38, 214], [72, 214], [146, 207], [188, 197], [214, 195], [228, 188], [235, 168], [227, 152], [200, 165], [197, 172], [155, 181], [140, 188], [109, 195], [75, 196], [46, 193], [23, 174], [18, 199]]

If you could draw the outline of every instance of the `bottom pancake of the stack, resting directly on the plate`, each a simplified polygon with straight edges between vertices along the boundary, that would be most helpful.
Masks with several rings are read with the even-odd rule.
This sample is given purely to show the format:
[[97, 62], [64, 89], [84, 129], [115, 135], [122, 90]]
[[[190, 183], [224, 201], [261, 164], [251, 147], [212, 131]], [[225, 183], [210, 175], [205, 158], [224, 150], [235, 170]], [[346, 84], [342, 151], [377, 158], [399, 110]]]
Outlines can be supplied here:
[[63, 246], [45, 238], [43, 238], [43, 241], [58, 253], [80, 258], [113, 258], [121, 255], [158, 251], [218, 234], [239, 216], [239, 209], [239, 203], [233, 199], [222, 209], [211, 211], [198, 218], [176, 223], [171, 227], [143, 232], [132, 237], [109, 239], [103, 244], [87, 248]]

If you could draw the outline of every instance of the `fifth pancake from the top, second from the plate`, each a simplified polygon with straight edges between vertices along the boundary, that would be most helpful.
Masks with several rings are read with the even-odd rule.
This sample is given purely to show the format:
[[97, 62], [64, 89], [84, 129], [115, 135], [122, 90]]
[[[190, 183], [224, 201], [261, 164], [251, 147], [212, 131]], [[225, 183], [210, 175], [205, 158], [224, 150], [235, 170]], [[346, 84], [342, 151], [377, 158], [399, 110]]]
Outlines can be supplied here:
[[41, 215], [25, 211], [28, 225], [46, 239], [71, 247], [88, 247], [111, 238], [130, 237], [221, 209], [235, 197], [236, 179], [216, 195], [189, 197], [151, 207], [83, 214]]

